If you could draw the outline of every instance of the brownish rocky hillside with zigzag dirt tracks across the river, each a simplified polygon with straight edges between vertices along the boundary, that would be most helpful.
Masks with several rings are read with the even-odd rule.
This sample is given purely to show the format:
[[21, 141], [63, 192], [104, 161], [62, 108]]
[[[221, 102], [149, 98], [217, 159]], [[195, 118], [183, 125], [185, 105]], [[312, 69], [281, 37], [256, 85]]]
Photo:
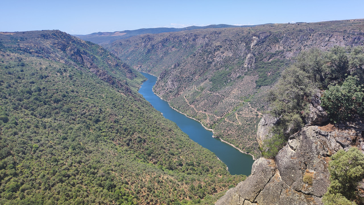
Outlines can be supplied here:
[[302, 51], [364, 42], [363, 19], [207, 28], [115, 40], [106, 49], [158, 75], [155, 92], [215, 136], [260, 155], [256, 129], [265, 93]]

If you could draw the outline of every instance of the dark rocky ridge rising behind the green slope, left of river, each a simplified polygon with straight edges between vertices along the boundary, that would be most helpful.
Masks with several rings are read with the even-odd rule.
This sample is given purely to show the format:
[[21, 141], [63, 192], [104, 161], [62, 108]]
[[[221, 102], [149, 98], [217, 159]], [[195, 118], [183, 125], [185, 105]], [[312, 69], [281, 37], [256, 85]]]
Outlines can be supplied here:
[[101, 46], [58, 30], [3, 32], [0, 34], [0, 45], [5, 46], [4, 51], [27, 53], [91, 72], [126, 94], [139, 89], [145, 80], [138, 71]]

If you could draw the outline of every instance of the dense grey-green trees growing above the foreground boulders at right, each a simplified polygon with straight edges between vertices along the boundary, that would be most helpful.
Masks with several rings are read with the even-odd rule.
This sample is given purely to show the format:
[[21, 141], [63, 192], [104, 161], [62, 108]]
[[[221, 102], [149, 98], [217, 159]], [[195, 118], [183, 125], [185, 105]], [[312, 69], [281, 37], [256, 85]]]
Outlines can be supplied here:
[[[269, 94], [270, 112], [279, 118], [272, 130], [275, 137], [288, 139], [304, 126], [312, 96], [318, 89], [324, 90], [321, 105], [334, 123], [363, 118], [363, 53], [363, 47], [340, 46], [328, 52], [318, 49], [302, 52]], [[284, 143], [279, 145], [278, 150]], [[263, 150], [268, 148], [268, 152], [264, 155], [275, 156], [276, 145], [267, 143], [266, 146]]]

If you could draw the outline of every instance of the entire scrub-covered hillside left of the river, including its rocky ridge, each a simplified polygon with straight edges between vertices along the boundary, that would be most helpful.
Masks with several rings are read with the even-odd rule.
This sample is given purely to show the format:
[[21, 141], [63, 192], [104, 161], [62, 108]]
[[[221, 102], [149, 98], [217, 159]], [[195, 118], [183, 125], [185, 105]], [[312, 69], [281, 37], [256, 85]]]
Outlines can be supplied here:
[[0, 204], [209, 204], [244, 180], [102, 47], [60, 31], [0, 39]]

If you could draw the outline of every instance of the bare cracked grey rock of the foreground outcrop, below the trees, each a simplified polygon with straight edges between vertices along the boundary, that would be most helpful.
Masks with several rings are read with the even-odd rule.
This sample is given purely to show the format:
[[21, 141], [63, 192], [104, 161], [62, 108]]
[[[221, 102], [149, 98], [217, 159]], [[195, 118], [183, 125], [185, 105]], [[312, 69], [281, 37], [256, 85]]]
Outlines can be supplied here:
[[362, 125], [309, 126], [290, 136], [276, 159], [260, 158], [245, 181], [226, 192], [216, 205], [322, 205], [329, 186], [329, 157], [340, 149], [364, 152]]

